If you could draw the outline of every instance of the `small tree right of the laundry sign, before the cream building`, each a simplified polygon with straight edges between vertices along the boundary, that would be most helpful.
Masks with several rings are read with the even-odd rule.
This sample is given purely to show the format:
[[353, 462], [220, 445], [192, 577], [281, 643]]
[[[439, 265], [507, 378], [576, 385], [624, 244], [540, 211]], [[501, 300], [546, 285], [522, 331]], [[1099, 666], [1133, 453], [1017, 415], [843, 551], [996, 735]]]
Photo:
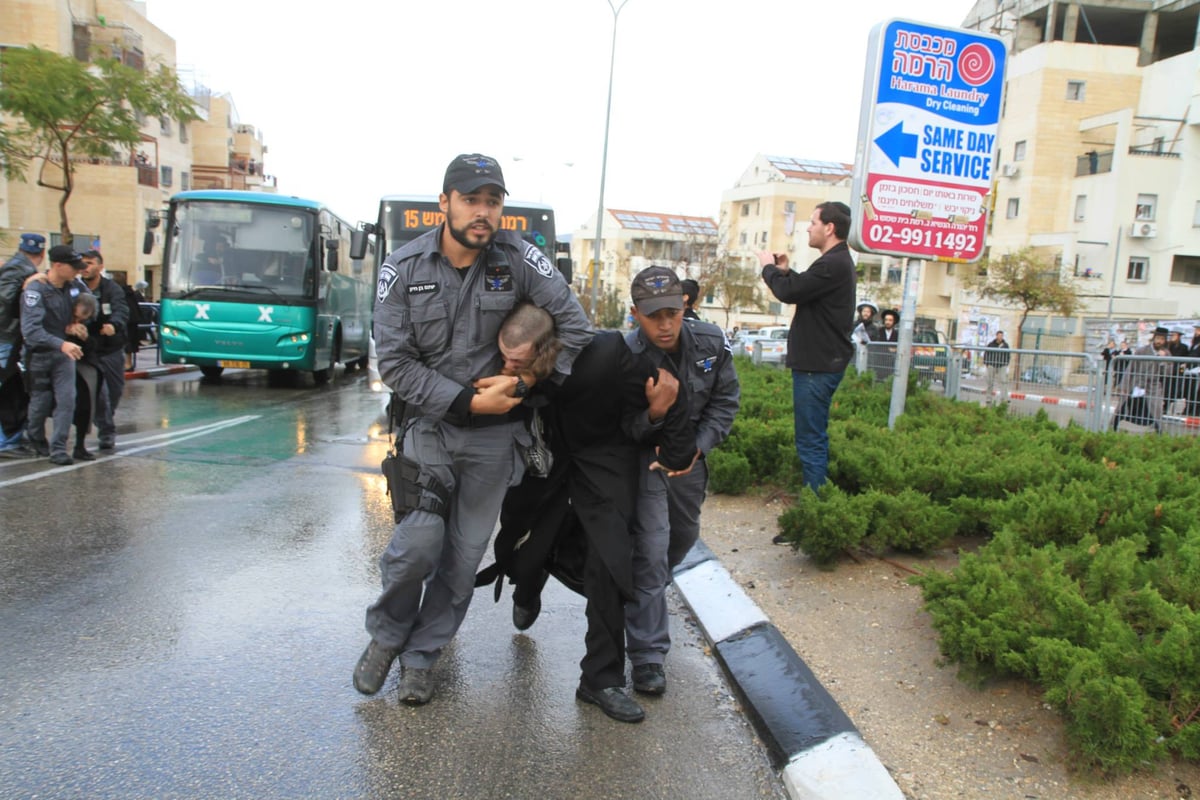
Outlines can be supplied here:
[[1000, 258], [988, 257], [979, 263], [979, 271], [966, 279], [966, 288], [985, 300], [1020, 309], [1014, 347], [1021, 347], [1021, 331], [1028, 315], [1049, 309], [1072, 317], [1081, 300], [1075, 285], [1064, 281], [1052, 261], [1030, 247]]

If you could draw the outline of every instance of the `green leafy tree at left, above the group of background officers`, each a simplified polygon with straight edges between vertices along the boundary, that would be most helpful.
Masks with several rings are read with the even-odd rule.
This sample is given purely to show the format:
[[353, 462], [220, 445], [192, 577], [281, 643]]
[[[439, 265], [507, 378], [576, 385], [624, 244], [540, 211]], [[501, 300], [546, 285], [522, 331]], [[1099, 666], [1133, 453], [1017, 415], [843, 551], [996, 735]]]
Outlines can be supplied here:
[[38, 162], [37, 185], [60, 192], [59, 229], [71, 242], [67, 201], [74, 191], [76, 158], [110, 158], [142, 140], [139, 120], [168, 116], [186, 125], [199, 119], [174, 71], [136, 70], [116, 59], [85, 64], [37, 47], [0, 54], [0, 158], [10, 179], [25, 180]]

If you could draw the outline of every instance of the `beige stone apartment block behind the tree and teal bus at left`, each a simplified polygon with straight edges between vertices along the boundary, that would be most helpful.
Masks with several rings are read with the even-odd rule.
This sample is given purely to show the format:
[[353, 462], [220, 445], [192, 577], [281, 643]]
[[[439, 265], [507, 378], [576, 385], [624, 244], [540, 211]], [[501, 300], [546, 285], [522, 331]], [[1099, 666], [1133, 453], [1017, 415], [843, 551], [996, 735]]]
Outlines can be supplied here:
[[[0, 47], [30, 44], [83, 61], [103, 53], [139, 70], [175, 68], [174, 40], [146, 19], [145, 4], [131, 0], [0, 0]], [[161, 219], [172, 194], [202, 186], [274, 188], [263, 174], [262, 136], [238, 122], [232, 98], [198, 85], [185, 89], [200, 120], [146, 119], [137, 148], [73, 162], [67, 215], [76, 248], [101, 249], [114, 278], [149, 282], [150, 297], [161, 290]], [[35, 160], [24, 182], [0, 179], [5, 255], [22, 231], [42, 233], [50, 243], [60, 239], [61, 193], [37, 186], [40, 167]]]

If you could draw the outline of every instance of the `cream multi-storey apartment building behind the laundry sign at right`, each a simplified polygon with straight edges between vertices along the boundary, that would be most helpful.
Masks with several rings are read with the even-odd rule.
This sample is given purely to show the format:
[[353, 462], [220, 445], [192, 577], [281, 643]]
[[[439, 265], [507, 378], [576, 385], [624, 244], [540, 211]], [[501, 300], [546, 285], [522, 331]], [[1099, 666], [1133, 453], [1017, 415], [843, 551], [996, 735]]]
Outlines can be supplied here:
[[[1010, 50], [990, 253], [1033, 247], [1085, 300], [1026, 332], [1096, 350], [1200, 315], [1198, 23], [1200, 0], [980, 0], [966, 18]], [[1012, 308], [953, 295], [964, 331], [1015, 325]]]

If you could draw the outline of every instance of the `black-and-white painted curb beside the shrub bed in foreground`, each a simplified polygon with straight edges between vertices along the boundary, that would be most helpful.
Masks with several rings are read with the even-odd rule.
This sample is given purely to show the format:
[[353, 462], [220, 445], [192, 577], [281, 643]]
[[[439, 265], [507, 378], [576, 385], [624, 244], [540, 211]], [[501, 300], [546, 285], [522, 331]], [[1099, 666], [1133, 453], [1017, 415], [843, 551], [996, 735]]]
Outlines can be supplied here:
[[796, 800], [904, 800], [854, 723], [742, 590], [697, 542], [674, 584], [700, 621]]

